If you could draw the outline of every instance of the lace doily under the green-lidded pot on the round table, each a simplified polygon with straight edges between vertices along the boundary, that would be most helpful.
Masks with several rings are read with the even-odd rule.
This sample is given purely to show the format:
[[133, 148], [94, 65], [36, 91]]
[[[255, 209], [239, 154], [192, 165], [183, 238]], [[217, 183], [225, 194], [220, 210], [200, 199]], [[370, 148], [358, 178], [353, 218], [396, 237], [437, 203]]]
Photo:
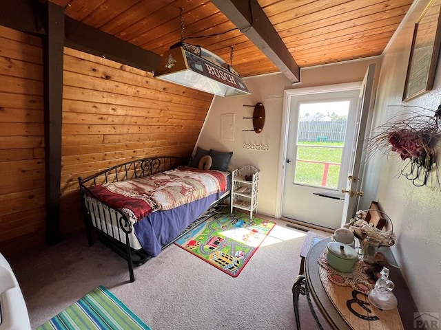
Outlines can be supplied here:
[[338, 270], [334, 270], [333, 267], [328, 265], [326, 259], [326, 251], [320, 254], [318, 258], [318, 264], [327, 270], [329, 281], [336, 285], [342, 285], [344, 287], [352, 287], [352, 289], [362, 292], [363, 294], [369, 294], [375, 282], [369, 279], [369, 276], [363, 271], [365, 263], [358, 260], [353, 266], [353, 272], [342, 273]]

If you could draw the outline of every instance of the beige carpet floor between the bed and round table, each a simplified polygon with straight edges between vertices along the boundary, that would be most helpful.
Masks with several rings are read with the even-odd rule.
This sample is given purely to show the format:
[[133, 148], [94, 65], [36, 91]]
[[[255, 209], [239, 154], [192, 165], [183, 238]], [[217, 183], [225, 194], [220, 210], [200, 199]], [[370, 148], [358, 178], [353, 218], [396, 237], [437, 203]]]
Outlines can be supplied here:
[[[272, 219], [274, 220], [274, 219]], [[49, 320], [98, 285], [104, 285], [152, 330], [295, 329], [291, 287], [298, 274], [305, 232], [283, 220], [233, 278], [170, 245], [128, 282], [124, 259], [85, 234], [11, 261], [28, 305], [32, 328]], [[302, 329], [316, 329], [300, 296]]]

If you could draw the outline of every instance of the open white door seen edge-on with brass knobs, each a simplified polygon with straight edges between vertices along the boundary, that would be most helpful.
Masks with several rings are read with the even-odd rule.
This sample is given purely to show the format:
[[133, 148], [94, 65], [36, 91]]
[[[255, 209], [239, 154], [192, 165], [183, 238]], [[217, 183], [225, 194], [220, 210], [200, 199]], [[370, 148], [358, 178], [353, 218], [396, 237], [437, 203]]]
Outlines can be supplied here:
[[352, 159], [351, 167], [349, 168], [349, 174], [347, 177], [347, 186], [345, 189], [345, 203], [342, 212], [342, 223], [347, 223], [351, 217], [356, 213], [358, 208], [358, 199], [362, 195], [360, 187], [362, 184], [362, 173], [364, 170], [365, 162], [362, 159], [365, 157], [364, 143], [366, 136], [366, 127], [369, 116], [369, 109], [371, 109], [371, 99], [373, 98], [373, 80], [375, 75], [375, 64], [369, 65], [365, 79], [362, 82], [360, 88], [360, 102], [359, 102], [359, 115], [356, 122], [358, 131], [353, 138], [352, 147]]

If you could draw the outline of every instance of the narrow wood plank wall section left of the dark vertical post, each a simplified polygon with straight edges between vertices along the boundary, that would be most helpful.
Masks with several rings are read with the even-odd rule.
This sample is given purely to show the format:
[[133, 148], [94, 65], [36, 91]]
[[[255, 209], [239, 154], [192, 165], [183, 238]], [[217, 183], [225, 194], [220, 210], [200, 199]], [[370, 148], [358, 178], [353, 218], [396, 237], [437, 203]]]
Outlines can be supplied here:
[[43, 52], [0, 26], [0, 251], [45, 244]]

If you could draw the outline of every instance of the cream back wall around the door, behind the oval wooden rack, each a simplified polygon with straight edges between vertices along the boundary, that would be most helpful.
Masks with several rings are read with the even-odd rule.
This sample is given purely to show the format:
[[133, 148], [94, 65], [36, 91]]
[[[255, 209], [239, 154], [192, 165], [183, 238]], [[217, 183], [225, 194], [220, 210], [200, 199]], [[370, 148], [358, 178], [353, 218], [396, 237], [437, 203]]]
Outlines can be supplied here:
[[[233, 151], [231, 168], [247, 164], [259, 168], [258, 212], [274, 217], [280, 212], [276, 196], [278, 194], [278, 174], [280, 170], [283, 170], [279, 167], [279, 161], [284, 90], [362, 81], [367, 67], [371, 63], [376, 63], [379, 70], [379, 57], [349, 61], [339, 65], [302, 69], [301, 83], [294, 86], [281, 73], [245, 78], [252, 94], [229, 98], [216, 96], [201, 135], [199, 135], [198, 146], [206, 149], [214, 148], [219, 151]], [[252, 129], [252, 120], [242, 118], [252, 117], [254, 110], [253, 107], [243, 107], [243, 104], [254, 105], [257, 102], [263, 102], [265, 106], [266, 118], [263, 131], [258, 134], [253, 131], [243, 132], [243, 129]], [[235, 115], [234, 141], [220, 140], [220, 115], [223, 113], [234, 113]], [[269, 151], [245, 150], [243, 144], [249, 143], [267, 145]]]

